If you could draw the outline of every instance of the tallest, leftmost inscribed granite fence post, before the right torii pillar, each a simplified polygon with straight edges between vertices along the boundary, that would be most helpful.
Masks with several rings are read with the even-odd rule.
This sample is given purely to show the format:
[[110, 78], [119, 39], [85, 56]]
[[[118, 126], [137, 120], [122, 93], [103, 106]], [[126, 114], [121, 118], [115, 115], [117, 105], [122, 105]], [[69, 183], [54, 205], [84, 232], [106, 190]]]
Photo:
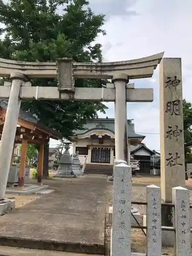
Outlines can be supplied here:
[[131, 256], [131, 180], [129, 165], [114, 167], [111, 256]]

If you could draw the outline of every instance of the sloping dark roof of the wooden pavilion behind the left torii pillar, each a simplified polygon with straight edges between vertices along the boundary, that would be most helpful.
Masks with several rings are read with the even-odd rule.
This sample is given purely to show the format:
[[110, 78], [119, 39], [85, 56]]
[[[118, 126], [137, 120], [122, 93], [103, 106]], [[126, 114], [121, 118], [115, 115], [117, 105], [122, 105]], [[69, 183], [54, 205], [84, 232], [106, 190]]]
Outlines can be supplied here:
[[[2, 109], [4, 109], [6, 111], [7, 106], [8, 106], [8, 100], [0, 99], [0, 106], [1, 106]], [[31, 114], [30, 112], [25, 112], [25, 111], [20, 109], [19, 118], [23, 119], [25, 121], [28, 121], [30, 123], [33, 123], [36, 127], [38, 127], [42, 131], [48, 132], [50, 134], [50, 137], [53, 138], [53, 139], [60, 139], [61, 138], [60, 133], [54, 131], [52, 128], [49, 128], [46, 125], [44, 125], [43, 123], [39, 122], [39, 120], [35, 116], [33, 116], [33, 114]]]

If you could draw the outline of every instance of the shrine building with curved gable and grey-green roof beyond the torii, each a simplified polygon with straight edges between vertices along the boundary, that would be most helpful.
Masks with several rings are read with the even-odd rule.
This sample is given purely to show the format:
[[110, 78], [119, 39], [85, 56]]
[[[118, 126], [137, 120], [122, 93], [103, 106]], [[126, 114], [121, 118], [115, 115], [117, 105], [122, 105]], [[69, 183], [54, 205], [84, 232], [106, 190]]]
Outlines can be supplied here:
[[[145, 136], [135, 133], [132, 120], [127, 120], [127, 124], [127, 140], [131, 151], [131, 145], [138, 145]], [[113, 165], [115, 158], [115, 119], [88, 119], [84, 130], [75, 131], [71, 141], [73, 142], [73, 153], [78, 151], [82, 165], [85, 162], [88, 165]]]

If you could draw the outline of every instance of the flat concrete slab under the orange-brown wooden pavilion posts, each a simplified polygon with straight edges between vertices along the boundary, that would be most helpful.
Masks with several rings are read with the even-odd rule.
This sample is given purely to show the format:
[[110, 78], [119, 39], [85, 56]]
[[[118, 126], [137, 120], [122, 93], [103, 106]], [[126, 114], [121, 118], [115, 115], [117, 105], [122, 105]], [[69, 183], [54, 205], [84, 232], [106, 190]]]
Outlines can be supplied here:
[[15, 194], [15, 195], [29, 195], [29, 194], [35, 194], [39, 190], [45, 190], [48, 188], [49, 185], [31, 185], [31, 184], [25, 184], [23, 187], [7, 187], [6, 193], [7, 194]]

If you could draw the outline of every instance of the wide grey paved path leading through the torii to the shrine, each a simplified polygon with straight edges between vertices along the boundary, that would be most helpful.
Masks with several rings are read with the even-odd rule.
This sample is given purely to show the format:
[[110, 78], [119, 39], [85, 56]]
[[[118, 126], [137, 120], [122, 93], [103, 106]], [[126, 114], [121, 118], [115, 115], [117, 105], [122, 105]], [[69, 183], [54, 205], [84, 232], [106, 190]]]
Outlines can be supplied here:
[[55, 192], [0, 218], [0, 245], [103, 254], [106, 176], [44, 184]]

